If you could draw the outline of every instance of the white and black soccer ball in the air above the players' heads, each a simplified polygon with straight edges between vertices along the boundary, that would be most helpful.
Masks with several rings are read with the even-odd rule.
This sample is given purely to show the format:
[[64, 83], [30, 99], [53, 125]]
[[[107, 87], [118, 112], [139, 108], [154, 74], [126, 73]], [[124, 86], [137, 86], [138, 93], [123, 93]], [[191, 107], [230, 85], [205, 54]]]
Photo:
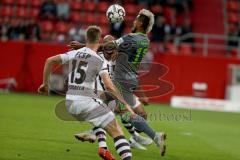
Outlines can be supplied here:
[[118, 4], [113, 4], [108, 7], [106, 16], [111, 23], [122, 22], [125, 17], [125, 9]]

